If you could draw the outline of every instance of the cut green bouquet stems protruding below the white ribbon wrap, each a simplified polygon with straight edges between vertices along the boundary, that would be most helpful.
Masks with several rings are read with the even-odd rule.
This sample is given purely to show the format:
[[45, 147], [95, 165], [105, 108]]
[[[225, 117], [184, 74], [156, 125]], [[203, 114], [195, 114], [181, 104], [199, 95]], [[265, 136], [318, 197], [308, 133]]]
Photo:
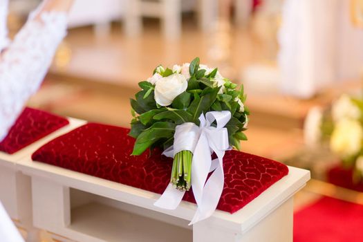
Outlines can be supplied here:
[[180, 191], [189, 191], [192, 185], [192, 159], [191, 151], [180, 151], [174, 156], [170, 182]]

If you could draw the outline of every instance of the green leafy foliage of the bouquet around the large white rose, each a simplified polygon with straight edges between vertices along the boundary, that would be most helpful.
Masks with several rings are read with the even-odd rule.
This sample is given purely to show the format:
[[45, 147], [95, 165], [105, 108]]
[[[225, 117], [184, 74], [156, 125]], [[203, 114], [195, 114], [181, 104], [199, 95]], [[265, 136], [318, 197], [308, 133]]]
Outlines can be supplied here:
[[[173, 75], [170, 68], [158, 66], [153, 73], [159, 73], [162, 77]], [[169, 106], [160, 106], [154, 97], [155, 86], [149, 82], [140, 82], [141, 91], [131, 99], [131, 131], [129, 136], [136, 138], [133, 155], [140, 155], [146, 149], [162, 147], [166, 149], [174, 142], [175, 127], [185, 122], [199, 124], [201, 113], [208, 111], [231, 112], [232, 118], [225, 126], [228, 131], [230, 145], [240, 149], [240, 141], [247, 140], [243, 133], [246, 117], [249, 115], [247, 106], [240, 111], [241, 102], [245, 102], [247, 95], [244, 93], [243, 85], [237, 89], [237, 85], [230, 80], [224, 79], [223, 86], [217, 86], [215, 78], [218, 68], [207, 73], [200, 68], [200, 59], [196, 57], [189, 65], [190, 78], [187, 91], [176, 96]]]

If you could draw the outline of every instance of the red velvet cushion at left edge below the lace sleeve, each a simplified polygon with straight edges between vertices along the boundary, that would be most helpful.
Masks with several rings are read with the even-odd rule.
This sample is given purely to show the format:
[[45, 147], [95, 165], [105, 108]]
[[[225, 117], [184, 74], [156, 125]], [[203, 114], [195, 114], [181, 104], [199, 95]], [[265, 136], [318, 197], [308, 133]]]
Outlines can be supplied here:
[[0, 142], [0, 151], [15, 153], [68, 123], [65, 118], [26, 108], [10, 129], [8, 136]]

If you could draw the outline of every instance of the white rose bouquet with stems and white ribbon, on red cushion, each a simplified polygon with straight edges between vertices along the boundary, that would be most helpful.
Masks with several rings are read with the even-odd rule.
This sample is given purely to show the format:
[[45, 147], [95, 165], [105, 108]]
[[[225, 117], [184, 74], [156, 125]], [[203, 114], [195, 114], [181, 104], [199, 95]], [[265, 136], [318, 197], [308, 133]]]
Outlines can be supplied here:
[[[243, 131], [249, 111], [244, 105], [243, 86], [237, 89], [237, 84], [222, 77], [217, 68], [200, 64], [198, 57], [183, 66], [158, 66], [139, 86], [142, 90], [131, 99], [129, 135], [136, 138], [132, 154], [155, 147], [165, 150], [166, 156], [174, 158], [173, 189], [185, 192], [192, 186], [197, 204], [198, 187], [203, 193], [210, 171], [214, 170], [223, 188], [223, 167], [216, 168], [211, 155], [216, 153], [222, 162], [225, 150], [240, 149], [240, 141], [247, 140]], [[214, 179], [212, 176], [209, 180]]]

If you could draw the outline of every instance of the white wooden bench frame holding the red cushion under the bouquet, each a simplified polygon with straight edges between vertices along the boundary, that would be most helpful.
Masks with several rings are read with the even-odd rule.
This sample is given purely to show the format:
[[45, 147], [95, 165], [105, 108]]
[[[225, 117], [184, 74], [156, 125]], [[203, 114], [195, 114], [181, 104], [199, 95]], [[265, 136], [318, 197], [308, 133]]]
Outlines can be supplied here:
[[238, 212], [217, 210], [188, 226], [193, 203], [162, 210], [153, 206], [159, 194], [31, 160], [41, 145], [83, 123], [71, 119], [13, 156], [0, 154], [1, 201], [15, 221], [32, 218], [31, 226], [60, 241], [292, 241], [293, 195], [309, 171], [289, 167], [288, 176]]

